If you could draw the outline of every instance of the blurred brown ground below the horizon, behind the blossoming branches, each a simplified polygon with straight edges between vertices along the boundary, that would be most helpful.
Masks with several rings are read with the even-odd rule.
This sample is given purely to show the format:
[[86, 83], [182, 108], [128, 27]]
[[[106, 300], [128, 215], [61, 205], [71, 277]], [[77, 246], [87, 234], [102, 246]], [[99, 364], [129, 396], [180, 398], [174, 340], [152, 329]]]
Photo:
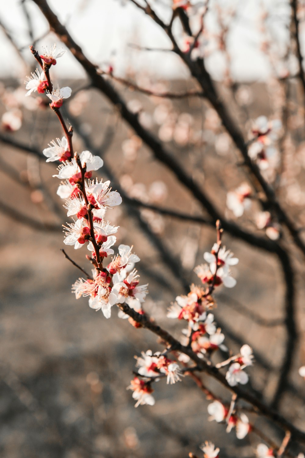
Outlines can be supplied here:
[[[82, 83], [73, 84], [80, 87]], [[255, 93], [256, 100], [250, 107], [253, 117], [267, 110], [263, 88], [258, 87]], [[134, 99], [130, 94], [125, 96]], [[149, 113], [152, 103], [139, 99]], [[206, 108], [203, 109], [198, 100], [178, 103], [184, 113], [193, 115], [192, 129], [199, 129], [203, 121], [209, 120], [210, 114], [206, 114]], [[111, 113], [99, 94], [90, 92], [88, 103], [80, 111], [77, 119], [81, 120], [81, 128], [92, 135], [96, 146], [105, 138], [109, 126], [115, 129], [103, 158], [120, 178], [121, 185], [126, 189], [129, 186], [134, 196], [143, 197], [147, 196], [155, 181], [163, 181], [167, 195], [161, 205], [200, 213], [189, 194], [152, 159], [147, 149], [140, 146], [131, 159], [128, 153], [122, 152], [123, 140], [131, 138], [132, 133], [117, 120], [116, 114]], [[152, 129], [156, 129], [155, 126]], [[56, 117], [49, 110], [41, 109], [29, 112], [21, 130], [10, 135], [40, 150], [51, 139], [61, 136]], [[176, 157], [186, 169], [194, 170], [194, 177], [224, 211], [225, 188], [234, 188], [244, 177], [242, 171], [240, 176], [237, 175], [232, 166], [234, 154], [215, 154], [214, 139], [208, 136], [209, 132], [206, 143], [200, 148], [174, 142], [169, 142], [169, 145], [173, 146]], [[82, 151], [77, 134], [74, 145], [77, 151]], [[1, 145], [0, 154], [2, 160], [16, 167], [21, 179], [30, 178], [33, 183], [40, 174], [42, 182], [50, 189], [50, 195], [55, 195], [58, 182], [51, 177], [54, 174], [52, 164], [39, 164], [37, 158], [27, 158], [25, 153], [5, 145]], [[103, 169], [101, 173], [103, 175]], [[50, 216], [46, 196], [40, 202], [41, 191], [39, 194], [37, 189], [34, 192], [17, 185], [1, 170], [0, 176], [3, 202], [39, 221], [59, 226], [67, 221], [64, 212], [57, 217]], [[59, 199], [56, 205], [61, 206]], [[298, 212], [294, 208], [291, 211]], [[134, 245], [134, 251], [141, 258], [137, 266], [141, 283], [148, 282], [150, 290], [144, 308], [155, 316], [157, 322], [179, 336], [181, 323], [176, 325], [166, 318], [168, 305], [183, 292], [179, 278], [162, 264], [151, 240], [139, 230], [136, 221], [128, 218], [128, 212], [128, 207], [122, 206], [107, 213], [107, 217], [121, 226], [118, 244]], [[196, 281], [193, 267], [203, 262], [203, 252], [210, 250], [214, 242], [214, 231], [149, 212], [142, 215], [161, 236], [177, 263], [183, 263], [187, 281]], [[198, 445], [204, 440], [213, 440], [220, 448], [225, 446], [222, 456], [252, 454], [248, 446], [255, 444], [253, 439], [251, 442], [249, 439], [237, 441], [235, 433], [231, 432], [229, 440], [222, 425], [207, 421], [208, 402], [187, 378], [172, 387], [166, 386], [164, 381], [159, 382], [155, 385], [155, 406], [134, 409], [131, 393], [125, 389], [133, 376], [133, 356], [147, 349], [160, 349], [155, 337], [119, 320], [115, 309], [112, 318], [106, 320], [101, 312], [89, 308], [86, 298], [75, 301], [70, 285], [79, 273], [60, 251], [66, 248], [60, 230], [53, 233], [37, 231], [35, 227], [18, 224], [3, 214], [1, 219], [1, 457], [180, 458], [188, 456], [190, 451], [198, 453]], [[251, 227], [246, 219], [244, 224]], [[234, 300], [267, 320], [282, 317], [284, 289], [281, 272], [272, 256], [231, 240], [226, 234], [224, 241], [240, 263], [234, 268], [237, 286], [232, 290], [221, 289], [215, 294], [218, 302], [216, 320], [225, 324], [229, 348], [239, 348], [239, 343], [232, 339], [234, 335], [235, 340], [253, 346], [257, 364], [249, 370], [251, 384], [262, 391], [268, 401], [272, 398], [282, 361], [284, 328], [258, 326], [235, 310]], [[67, 248], [68, 254], [89, 270], [84, 251]], [[298, 278], [298, 288], [297, 319], [302, 337], [305, 307], [301, 278]], [[305, 349], [301, 348], [295, 356], [290, 380], [294, 391], [300, 390], [302, 385], [297, 370], [304, 363]], [[215, 382], [206, 380], [206, 383], [222, 393]], [[281, 408], [290, 420], [304, 428], [304, 387], [301, 390], [299, 397], [288, 393]], [[228, 399], [228, 394], [225, 395]]]

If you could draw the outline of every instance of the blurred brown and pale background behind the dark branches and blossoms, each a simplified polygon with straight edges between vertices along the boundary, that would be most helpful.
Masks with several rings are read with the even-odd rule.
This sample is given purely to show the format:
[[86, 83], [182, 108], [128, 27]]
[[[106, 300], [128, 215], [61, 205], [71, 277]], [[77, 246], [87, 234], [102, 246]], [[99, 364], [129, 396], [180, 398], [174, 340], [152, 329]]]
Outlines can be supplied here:
[[[175, 3], [151, 2], [165, 22]], [[184, 3], [193, 37], [201, 21], [204, 27], [193, 46], [176, 17], [177, 43], [185, 53], [193, 47], [193, 61], [204, 59], [246, 141], [253, 137], [258, 116], [281, 120], [267, 167], [262, 168], [261, 158], [254, 160], [304, 240], [303, 68], [289, 2]], [[237, 285], [217, 290], [214, 315], [232, 352], [242, 344], [253, 348], [256, 363], [247, 389], [304, 429], [305, 387], [298, 374], [305, 364], [304, 254], [272, 212], [268, 224], [261, 223], [263, 212], [269, 211], [261, 191], [240, 218], [226, 206], [228, 192], [253, 182], [217, 111], [203, 97], [182, 97], [198, 92], [198, 82], [182, 59], [169, 52], [168, 37], [150, 17], [128, 0], [48, 0], [48, 5], [129, 112], [138, 114], [144, 130], [204, 190], [219, 214], [266, 241], [271, 237], [287, 253], [290, 280], [284, 278], [285, 266], [276, 253], [225, 232], [224, 244], [240, 260], [233, 269]], [[302, 51], [304, 3], [298, 2], [295, 11]], [[55, 165], [46, 164], [42, 155], [62, 131], [44, 95], [25, 97], [24, 81], [36, 69], [28, 46], [34, 44], [42, 54], [42, 46], [64, 45], [31, 0], [0, 5], [0, 39], [1, 457], [182, 458], [189, 452], [202, 456], [198, 446], [204, 440], [225, 447], [223, 457], [253, 456], [258, 438], [253, 434], [240, 441], [234, 431], [228, 437], [223, 425], [209, 422], [209, 401], [189, 377], [174, 386], [159, 382], [155, 406], [134, 409], [126, 391], [134, 355], [163, 347], [149, 331], [118, 319], [114, 308], [106, 320], [101, 311], [89, 308], [86, 298], [75, 301], [70, 293], [79, 272], [60, 251], [66, 248], [61, 224], [67, 216], [56, 196]], [[203, 262], [216, 237], [213, 224], [182, 218], [181, 213], [207, 221], [211, 215], [122, 120], [118, 107], [91, 87], [82, 66], [64, 49], [51, 78], [55, 85], [72, 88], [62, 111], [74, 127], [74, 149], [103, 158], [97, 176], [112, 180], [123, 196], [123, 204], [107, 218], [120, 226], [117, 245], [134, 245], [141, 258], [141, 284], [149, 283], [144, 310], [180, 338], [183, 323], [166, 318], [167, 308], [198, 281], [193, 268]], [[85, 249], [66, 251], [90, 269]], [[288, 299], [287, 290], [292, 291]], [[285, 383], [278, 391], [283, 371]], [[218, 383], [202, 378], [230, 402]], [[251, 420], [281, 443], [283, 437], [272, 425], [255, 416]]]

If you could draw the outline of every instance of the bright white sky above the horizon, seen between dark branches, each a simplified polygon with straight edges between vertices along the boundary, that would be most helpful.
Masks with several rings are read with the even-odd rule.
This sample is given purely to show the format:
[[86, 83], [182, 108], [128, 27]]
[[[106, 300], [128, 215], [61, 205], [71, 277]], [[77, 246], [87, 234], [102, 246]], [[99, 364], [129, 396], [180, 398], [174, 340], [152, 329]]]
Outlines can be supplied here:
[[[171, 4], [171, 0], [162, 0], [163, 4]], [[194, 0], [194, 3], [197, 0]], [[216, 0], [210, 0], [213, 6]], [[153, 48], [169, 48], [170, 43], [165, 33], [143, 12], [139, 11], [129, 0], [48, 0], [49, 5], [66, 24], [71, 35], [75, 38], [91, 60], [99, 65], [111, 61], [115, 74], [124, 75], [128, 66], [135, 70], [145, 69], [156, 77], [187, 77], [188, 73], [179, 59], [169, 53], [139, 52], [128, 47], [128, 43], [140, 44]], [[269, 32], [278, 42], [283, 40], [284, 22], [287, 21], [289, 9], [288, 0], [218, 0], [218, 4], [238, 5], [238, 18], [235, 20], [233, 32], [230, 34], [230, 50], [232, 73], [240, 79], [265, 79], [270, 71], [266, 57], [260, 51], [262, 35], [257, 33], [259, 25], [259, 5], [265, 5], [272, 12], [268, 21]], [[41, 37], [48, 29], [47, 22], [31, 0], [27, 0], [28, 11], [34, 24], [35, 38]], [[170, 8], [161, 6], [160, 13], [164, 17], [170, 14]], [[19, 48], [26, 47], [22, 54], [28, 61], [32, 58], [27, 46], [31, 43], [27, 35], [27, 25], [20, 0], [0, 2], [0, 22], [11, 33]], [[207, 16], [209, 28], [217, 30], [212, 13]], [[177, 27], [179, 25], [177, 24]], [[176, 28], [178, 32], [178, 28]], [[11, 43], [0, 29], [0, 76], [20, 76], [21, 65], [18, 55]], [[53, 44], [58, 40], [53, 37], [44, 38], [37, 47]], [[4, 45], [3, 45], [4, 44]], [[59, 45], [60, 47], [60, 45]], [[222, 55], [214, 53], [207, 60], [207, 66], [212, 76], [221, 77], [224, 60]], [[65, 55], [60, 59], [54, 70], [59, 76], [83, 75], [80, 66], [72, 56]]]

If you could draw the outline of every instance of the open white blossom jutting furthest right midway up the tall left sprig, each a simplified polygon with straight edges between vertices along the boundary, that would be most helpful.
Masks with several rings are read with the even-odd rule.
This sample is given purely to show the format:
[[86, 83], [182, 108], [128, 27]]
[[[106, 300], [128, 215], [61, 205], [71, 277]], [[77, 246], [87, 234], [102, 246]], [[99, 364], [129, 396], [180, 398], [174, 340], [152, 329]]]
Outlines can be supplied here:
[[111, 191], [109, 185], [110, 181], [104, 183], [102, 181], [98, 183], [97, 180], [96, 183], [89, 181], [89, 186], [86, 189], [89, 201], [99, 208], [112, 208], [120, 205], [122, 197], [118, 191]]

